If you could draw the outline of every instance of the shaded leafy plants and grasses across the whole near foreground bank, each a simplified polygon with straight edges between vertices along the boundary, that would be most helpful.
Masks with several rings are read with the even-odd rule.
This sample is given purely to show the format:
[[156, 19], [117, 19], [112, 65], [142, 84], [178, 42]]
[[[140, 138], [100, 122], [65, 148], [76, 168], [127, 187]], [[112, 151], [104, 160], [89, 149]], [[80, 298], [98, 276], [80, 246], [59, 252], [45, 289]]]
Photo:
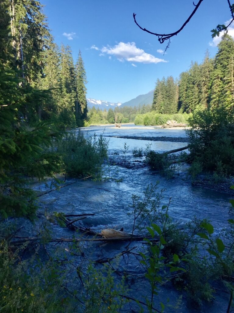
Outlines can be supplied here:
[[1, 228], [1, 309], [7, 313], [22, 310], [115, 313], [121, 312], [123, 307], [127, 309], [126, 305], [133, 301], [139, 305], [140, 312], [170, 312], [171, 307], [158, 300], [161, 285], [173, 283], [181, 290], [181, 295], [187, 292], [189, 299], [200, 305], [204, 300], [212, 301], [214, 287], [219, 282], [219, 288], [230, 293], [230, 306], [227, 308], [230, 312], [234, 221], [229, 220], [225, 243], [221, 239], [224, 233], [214, 235], [214, 229], [207, 220], [193, 218], [181, 228], [180, 222], [169, 216], [170, 202], [160, 208], [162, 192], [158, 192], [157, 185], [149, 185], [143, 197], [132, 196], [133, 211], [130, 215], [133, 232], [150, 235], [152, 240], [147, 239], [147, 245], [129, 250], [126, 247], [124, 258], [128, 259], [127, 264], [139, 263], [144, 269], [145, 288], [148, 290], [145, 298], [131, 296], [134, 281], [139, 277], [128, 268], [123, 270], [122, 265], [119, 267], [121, 254], [111, 258], [112, 261], [104, 259], [100, 265], [102, 262], [96, 263], [86, 253], [87, 247], [75, 242], [65, 245], [64, 254], [62, 243], [61, 247], [49, 244], [51, 226], [47, 220], [44, 230], [40, 229], [41, 240], [36, 246], [27, 239], [20, 247], [14, 245], [17, 239], [14, 239], [12, 231]]

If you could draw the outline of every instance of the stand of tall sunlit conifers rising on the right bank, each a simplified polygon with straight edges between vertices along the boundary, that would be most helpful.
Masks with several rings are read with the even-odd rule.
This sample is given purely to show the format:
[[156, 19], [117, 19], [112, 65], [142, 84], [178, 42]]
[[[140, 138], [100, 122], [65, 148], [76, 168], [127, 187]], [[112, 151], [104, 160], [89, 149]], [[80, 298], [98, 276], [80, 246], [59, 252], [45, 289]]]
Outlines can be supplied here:
[[214, 59], [208, 51], [202, 64], [191, 62], [179, 80], [172, 76], [157, 80], [152, 111], [164, 114], [191, 113], [198, 107], [233, 105], [234, 40], [223, 36]]

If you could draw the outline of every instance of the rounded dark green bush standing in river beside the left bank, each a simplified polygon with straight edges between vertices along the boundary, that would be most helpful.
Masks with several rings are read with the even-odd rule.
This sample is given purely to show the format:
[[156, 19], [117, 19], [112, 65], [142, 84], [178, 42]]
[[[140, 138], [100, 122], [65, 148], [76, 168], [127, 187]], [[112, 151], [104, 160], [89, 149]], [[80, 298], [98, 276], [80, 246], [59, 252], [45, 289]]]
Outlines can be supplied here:
[[101, 165], [107, 158], [108, 141], [103, 135], [70, 132], [60, 142], [57, 151], [62, 156], [64, 172], [71, 177], [101, 175]]

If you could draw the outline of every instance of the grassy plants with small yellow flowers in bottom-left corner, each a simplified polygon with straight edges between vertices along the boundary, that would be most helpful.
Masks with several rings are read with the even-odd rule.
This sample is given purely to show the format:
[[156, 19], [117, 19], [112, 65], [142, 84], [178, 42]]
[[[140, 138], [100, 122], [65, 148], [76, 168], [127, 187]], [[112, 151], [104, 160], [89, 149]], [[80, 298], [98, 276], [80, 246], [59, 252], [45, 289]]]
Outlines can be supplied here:
[[33, 261], [34, 258], [22, 261], [21, 251], [12, 252], [7, 242], [1, 240], [0, 307], [4, 313], [72, 311], [71, 300], [62, 286], [61, 269], [52, 261], [46, 265], [38, 262], [33, 268]]

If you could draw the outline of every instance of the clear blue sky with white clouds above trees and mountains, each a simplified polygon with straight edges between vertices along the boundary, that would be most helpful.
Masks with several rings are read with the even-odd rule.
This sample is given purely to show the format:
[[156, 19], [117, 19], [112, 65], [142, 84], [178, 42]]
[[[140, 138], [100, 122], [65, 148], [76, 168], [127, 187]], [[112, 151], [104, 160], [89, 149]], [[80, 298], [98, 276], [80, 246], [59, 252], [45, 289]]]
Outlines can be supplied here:
[[[193, 11], [193, 0], [41, 0], [57, 44], [79, 49], [87, 74], [87, 98], [125, 102], [154, 89], [157, 78], [178, 77], [191, 61], [217, 52], [211, 29], [231, 18], [226, 0], [204, 0], [187, 26], [167, 43], [140, 30], [171, 33]], [[196, 1], [195, 1], [196, 3]], [[234, 37], [234, 25], [229, 29]]]

